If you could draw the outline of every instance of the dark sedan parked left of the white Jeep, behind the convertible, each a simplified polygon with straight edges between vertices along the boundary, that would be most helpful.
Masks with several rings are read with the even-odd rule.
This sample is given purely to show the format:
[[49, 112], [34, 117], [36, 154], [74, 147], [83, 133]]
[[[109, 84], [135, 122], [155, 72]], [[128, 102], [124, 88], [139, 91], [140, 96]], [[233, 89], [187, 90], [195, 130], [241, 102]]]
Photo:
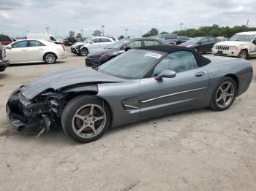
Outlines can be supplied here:
[[179, 44], [181, 47], [193, 48], [196, 52], [206, 53], [211, 52], [214, 44], [220, 42], [219, 39], [213, 36], [200, 36], [188, 40], [187, 42]]

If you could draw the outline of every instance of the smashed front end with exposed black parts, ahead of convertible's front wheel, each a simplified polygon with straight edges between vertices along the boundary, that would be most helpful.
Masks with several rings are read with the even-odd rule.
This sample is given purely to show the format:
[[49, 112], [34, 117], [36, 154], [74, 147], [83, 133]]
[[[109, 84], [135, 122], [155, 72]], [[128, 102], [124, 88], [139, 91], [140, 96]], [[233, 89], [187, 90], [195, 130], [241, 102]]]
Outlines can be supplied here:
[[51, 127], [59, 125], [61, 111], [66, 104], [65, 93], [45, 90], [28, 99], [22, 95], [24, 90], [26, 86], [21, 86], [10, 95], [6, 106], [7, 120], [19, 131], [42, 127], [39, 134], [45, 130], [50, 132]]

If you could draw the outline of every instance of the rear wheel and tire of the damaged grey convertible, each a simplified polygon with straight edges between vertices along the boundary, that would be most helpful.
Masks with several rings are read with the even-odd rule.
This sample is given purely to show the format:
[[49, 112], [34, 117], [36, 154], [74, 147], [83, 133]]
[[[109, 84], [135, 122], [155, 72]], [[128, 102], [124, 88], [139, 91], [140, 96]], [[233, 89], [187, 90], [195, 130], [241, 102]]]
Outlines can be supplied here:
[[233, 104], [236, 93], [236, 82], [230, 77], [223, 77], [211, 96], [210, 108], [215, 111], [228, 109]]

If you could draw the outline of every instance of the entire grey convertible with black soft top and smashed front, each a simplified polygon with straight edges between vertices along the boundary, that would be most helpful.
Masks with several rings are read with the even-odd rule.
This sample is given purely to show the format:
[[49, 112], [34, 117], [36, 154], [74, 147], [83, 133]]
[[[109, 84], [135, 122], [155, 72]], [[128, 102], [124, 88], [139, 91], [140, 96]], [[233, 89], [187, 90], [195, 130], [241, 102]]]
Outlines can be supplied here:
[[168, 45], [129, 50], [99, 68], [57, 71], [22, 85], [7, 102], [18, 130], [61, 126], [89, 142], [110, 126], [210, 107], [228, 109], [252, 80], [252, 66], [238, 58], [203, 57]]

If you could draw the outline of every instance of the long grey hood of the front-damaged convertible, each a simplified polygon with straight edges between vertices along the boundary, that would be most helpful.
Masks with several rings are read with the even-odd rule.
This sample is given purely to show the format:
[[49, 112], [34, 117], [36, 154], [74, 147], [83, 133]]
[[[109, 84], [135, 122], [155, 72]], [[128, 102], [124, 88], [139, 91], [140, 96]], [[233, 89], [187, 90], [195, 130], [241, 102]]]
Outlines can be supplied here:
[[82, 69], [61, 70], [44, 75], [27, 83], [21, 88], [21, 94], [24, 97], [31, 99], [48, 89], [57, 90], [69, 85], [124, 82], [126, 80], [127, 79], [121, 79], [95, 71], [89, 67]]

